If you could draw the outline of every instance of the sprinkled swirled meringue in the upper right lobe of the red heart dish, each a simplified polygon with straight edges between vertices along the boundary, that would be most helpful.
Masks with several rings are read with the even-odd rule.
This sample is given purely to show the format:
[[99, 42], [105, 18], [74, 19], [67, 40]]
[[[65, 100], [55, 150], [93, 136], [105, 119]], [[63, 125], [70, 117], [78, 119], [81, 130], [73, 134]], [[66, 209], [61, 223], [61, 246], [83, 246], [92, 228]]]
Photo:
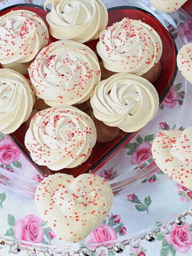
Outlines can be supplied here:
[[157, 65], [162, 41], [146, 23], [124, 18], [101, 31], [97, 51], [106, 69], [141, 76]]

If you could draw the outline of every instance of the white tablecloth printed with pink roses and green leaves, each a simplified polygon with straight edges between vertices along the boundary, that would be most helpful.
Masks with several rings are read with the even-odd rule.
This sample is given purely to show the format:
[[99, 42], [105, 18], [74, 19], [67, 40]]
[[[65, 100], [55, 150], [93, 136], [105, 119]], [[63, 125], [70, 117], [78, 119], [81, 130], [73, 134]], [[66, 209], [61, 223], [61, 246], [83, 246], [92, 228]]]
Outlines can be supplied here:
[[[127, 5], [127, 2], [126, 0], [103, 0], [107, 7]], [[139, 2], [146, 6], [149, 5], [149, 2], [145, 0]], [[43, 5], [44, 1], [1, 0], [0, 9], [18, 3]], [[153, 11], [156, 12], [155, 9]], [[174, 21], [174, 26], [170, 23], [167, 27], [180, 49], [183, 44], [192, 41], [192, 18], [182, 9], [171, 13], [170, 17]], [[178, 73], [153, 121], [103, 165], [97, 174], [105, 177], [109, 183], [113, 183], [130, 170], [138, 172], [146, 166], [153, 165], [151, 144], [156, 134], [161, 130], [183, 130], [192, 125], [191, 96], [192, 85]], [[23, 180], [20, 179], [23, 176], [26, 180], [25, 193], [22, 193]], [[33, 191], [41, 180], [41, 175], [26, 160], [10, 138], [0, 133], [0, 241], [4, 238], [10, 241], [10, 245], [21, 241], [24, 247], [25, 244], [37, 247], [41, 245], [44, 251], [47, 247], [51, 247], [58, 255], [61, 255], [62, 249], [66, 246], [76, 253], [83, 244], [61, 243], [38, 216]], [[15, 181], [15, 186], [13, 186], [13, 181]], [[122, 191], [115, 191], [114, 204], [106, 221], [87, 237], [84, 245], [88, 247], [89, 244], [102, 245], [107, 244], [108, 241], [124, 241], [126, 244], [131, 237], [143, 238], [143, 234], [159, 228], [162, 222], [170, 222], [172, 223], [170, 234], [157, 233], [157, 239], [154, 242], [141, 239], [141, 246], [137, 249], [126, 245], [121, 255], [192, 255], [192, 217], [190, 214], [186, 215], [188, 207], [192, 205], [191, 199], [192, 191], [170, 180], [156, 167], [153, 173], [150, 172], [139, 182]], [[186, 222], [181, 227], [173, 223], [177, 214], [186, 215]], [[115, 251], [109, 250], [108, 254], [115, 255]], [[0, 249], [0, 256], [4, 255], [13, 255], [11, 246]], [[27, 254], [26, 250], [22, 250], [20, 255], [35, 254]], [[44, 252], [40, 255], [44, 255]], [[93, 252], [92, 255], [95, 253]]]

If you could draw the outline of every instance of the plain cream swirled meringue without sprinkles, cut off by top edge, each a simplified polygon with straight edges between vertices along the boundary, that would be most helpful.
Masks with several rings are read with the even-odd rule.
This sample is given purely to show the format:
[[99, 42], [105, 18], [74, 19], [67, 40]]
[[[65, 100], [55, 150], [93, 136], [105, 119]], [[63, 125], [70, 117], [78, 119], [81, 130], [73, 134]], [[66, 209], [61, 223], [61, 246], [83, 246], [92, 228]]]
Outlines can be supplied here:
[[51, 3], [46, 20], [50, 34], [57, 39], [85, 43], [99, 38], [107, 26], [108, 12], [100, 0], [46, 0], [44, 8]]

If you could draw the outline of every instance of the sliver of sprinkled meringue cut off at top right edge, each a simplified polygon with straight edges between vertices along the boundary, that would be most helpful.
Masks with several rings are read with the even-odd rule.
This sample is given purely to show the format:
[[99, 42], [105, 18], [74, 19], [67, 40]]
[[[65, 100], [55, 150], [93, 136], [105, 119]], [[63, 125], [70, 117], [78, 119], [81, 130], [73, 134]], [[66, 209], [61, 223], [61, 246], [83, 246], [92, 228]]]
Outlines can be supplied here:
[[175, 12], [188, 0], [150, 0], [151, 4], [161, 12]]

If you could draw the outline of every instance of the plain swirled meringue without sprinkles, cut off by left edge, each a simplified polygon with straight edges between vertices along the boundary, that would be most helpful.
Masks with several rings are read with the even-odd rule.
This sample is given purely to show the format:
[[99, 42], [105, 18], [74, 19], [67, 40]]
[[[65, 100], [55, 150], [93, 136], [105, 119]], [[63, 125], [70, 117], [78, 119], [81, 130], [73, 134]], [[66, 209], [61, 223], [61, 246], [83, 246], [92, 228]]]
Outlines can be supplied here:
[[0, 131], [16, 131], [29, 118], [34, 103], [27, 79], [12, 69], [0, 69]]

